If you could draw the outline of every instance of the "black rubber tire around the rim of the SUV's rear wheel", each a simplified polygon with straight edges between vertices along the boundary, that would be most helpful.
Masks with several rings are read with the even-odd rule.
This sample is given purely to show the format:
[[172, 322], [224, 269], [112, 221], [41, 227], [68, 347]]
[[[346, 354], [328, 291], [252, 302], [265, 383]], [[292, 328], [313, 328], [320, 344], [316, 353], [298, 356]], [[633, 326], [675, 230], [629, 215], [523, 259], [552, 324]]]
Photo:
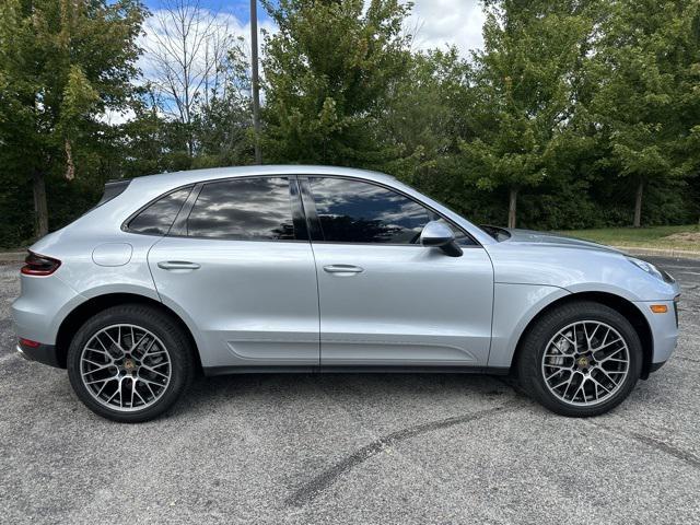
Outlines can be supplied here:
[[[117, 324], [131, 324], [155, 335], [167, 349], [171, 377], [160, 398], [142, 410], [120, 411], [98, 402], [81, 378], [81, 353], [93, 335]], [[156, 307], [122, 304], [104, 310], [88, 319], [75, 332], [68, 349], [68, 377], [80, 400], [93, 412], [124, 423], [140, 423], [161, 416], [184, 394], [192, 381], [195, 360], [188, 337], [177, 323]]]

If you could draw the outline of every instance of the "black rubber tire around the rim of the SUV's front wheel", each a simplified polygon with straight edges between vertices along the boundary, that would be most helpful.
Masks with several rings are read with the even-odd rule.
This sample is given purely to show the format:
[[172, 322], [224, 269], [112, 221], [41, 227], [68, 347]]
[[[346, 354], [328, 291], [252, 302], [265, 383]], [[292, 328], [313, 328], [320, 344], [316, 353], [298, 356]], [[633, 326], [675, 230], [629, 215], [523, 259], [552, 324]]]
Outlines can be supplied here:
[[[607, 399], [594, 406], [574, 406], [558, 398], [547, 386], [541, 366], [542, 357], [549, 341], [559, 330], [572, 323], [582, 320], [593, 320], [609, 325], [619, 332], [629, 351], [627, 376], [617, 390], [612, 390], [612, 394]], [[521, 387], [533, 399], [561, 416], [582, 418], [599, 416], [622, 402], [639, 380], [642, 371], [642, 361], [643, 352], [639, 336], [625, 316], [600, 303], [576, 301], [547, 312], [533, 326], [528, 327], [521, 342], [516, 370]]]

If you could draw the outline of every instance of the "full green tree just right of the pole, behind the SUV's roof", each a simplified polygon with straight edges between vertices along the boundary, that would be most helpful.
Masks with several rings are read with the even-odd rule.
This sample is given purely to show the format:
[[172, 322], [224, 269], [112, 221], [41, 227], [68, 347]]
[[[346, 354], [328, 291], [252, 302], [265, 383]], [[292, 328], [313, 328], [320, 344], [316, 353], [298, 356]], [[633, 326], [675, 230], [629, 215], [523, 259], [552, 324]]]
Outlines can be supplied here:
[[409, 65], [398, 0], [281, 0], [264, 5], [279, 32], [265, 39], [262, 154], [278, 162], [377, 166], [387, 96]]

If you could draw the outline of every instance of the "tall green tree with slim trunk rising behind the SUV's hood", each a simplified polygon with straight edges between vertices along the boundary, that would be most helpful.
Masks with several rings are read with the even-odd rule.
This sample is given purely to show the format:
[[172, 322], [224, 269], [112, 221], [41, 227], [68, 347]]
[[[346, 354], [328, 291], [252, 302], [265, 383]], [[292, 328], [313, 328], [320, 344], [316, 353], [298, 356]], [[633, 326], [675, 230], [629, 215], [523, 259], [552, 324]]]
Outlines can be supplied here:
[[593, 31], [579, 2], [487, 2], [485, 48], [475, 54], [478, 137], [463, 144], [480, 189], [509, 191], [509, 226], [518, 192], [555, 176], [570, 140], [574, 79]]

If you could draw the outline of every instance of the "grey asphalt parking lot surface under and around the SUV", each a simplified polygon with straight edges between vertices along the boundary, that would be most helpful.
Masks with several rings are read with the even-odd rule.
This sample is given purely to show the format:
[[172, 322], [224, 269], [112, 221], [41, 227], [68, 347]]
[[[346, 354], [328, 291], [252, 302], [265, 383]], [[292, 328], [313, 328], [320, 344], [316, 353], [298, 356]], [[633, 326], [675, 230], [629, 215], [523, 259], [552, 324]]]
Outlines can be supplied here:
[[0, 265], [0, 522], [699, 523], [700, 261], [654, 261], [682, 288], [678, 349], [603, 417], [490, 376], [267, 374], [199, 378], [140, 425], [15, 354]]

